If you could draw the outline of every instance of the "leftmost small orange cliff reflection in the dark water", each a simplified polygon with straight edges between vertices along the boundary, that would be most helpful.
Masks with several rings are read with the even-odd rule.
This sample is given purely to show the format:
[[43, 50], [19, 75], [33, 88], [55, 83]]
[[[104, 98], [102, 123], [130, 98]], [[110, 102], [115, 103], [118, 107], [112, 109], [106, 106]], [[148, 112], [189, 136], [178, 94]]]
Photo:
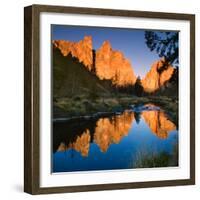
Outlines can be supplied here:
[[90, 131], [87, 129], [81, 134], [81, 136], [77, 137], [75, 142], [70, 143], [69, 145], [65, 145], [62, 142], [59, 145], [57, 151], [66, 151], [69, 149], [74, 149], [80, 152], [83, 157], [87, 157], [90, 148], [90, 138]]

